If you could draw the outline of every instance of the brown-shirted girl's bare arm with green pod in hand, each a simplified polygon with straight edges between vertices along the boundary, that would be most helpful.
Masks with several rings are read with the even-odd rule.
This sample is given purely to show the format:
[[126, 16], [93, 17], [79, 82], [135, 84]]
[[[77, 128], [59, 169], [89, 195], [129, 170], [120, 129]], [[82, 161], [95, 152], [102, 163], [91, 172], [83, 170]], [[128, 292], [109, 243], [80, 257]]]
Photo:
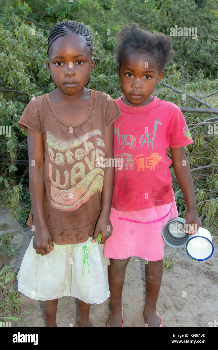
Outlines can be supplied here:
[[[113, 158], [113, 138], [114, 130], [113, 124], [106, 127], [106, 152], [105, 158]], [[110, 221], [111, 214], [111, 202], [113, 195], [113, 181], [114, 181], [114, 167], [105, 167], [104, 169], [104, 181], [101, 191], [101, 211], [96, 223], [96, 227], [93, 233], [92, 241], [95, 242], [98, 233], [101, 232], [102, 239], [101, 244], [104, 244], [107, 238], [112, 235], [112, 224]], [[110, 231], [109, 231], [110, 230]]]

